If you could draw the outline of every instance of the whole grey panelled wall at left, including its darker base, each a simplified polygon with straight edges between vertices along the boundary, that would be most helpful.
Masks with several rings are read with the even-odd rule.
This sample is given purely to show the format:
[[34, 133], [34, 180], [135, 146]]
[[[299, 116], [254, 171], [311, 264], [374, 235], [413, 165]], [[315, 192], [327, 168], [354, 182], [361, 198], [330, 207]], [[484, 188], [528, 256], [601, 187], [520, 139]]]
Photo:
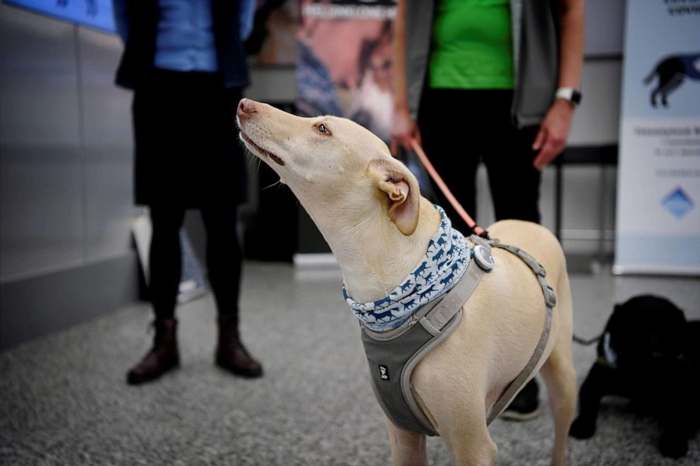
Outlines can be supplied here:
[[116, 36], [0, 6], [0, 336], [7, 347], [138, 294], [131, 123]]

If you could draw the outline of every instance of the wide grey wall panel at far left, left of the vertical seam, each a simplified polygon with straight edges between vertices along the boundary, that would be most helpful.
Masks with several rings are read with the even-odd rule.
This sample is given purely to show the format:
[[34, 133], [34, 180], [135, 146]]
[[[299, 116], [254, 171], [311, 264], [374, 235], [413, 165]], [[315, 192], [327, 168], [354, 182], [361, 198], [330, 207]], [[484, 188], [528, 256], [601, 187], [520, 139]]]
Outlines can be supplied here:
[[0, 280], [83, 260], [74, 28], [0, 6]]

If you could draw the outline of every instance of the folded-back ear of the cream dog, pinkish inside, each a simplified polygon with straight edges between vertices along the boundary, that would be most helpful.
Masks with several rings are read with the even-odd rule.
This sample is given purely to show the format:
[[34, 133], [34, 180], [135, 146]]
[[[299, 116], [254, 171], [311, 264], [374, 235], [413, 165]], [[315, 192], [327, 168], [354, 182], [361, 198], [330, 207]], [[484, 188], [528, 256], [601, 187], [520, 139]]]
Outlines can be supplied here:
[[385, 193], [391, 221], [401, 233], [412, 235], [418, 226], [421, 198], [416, 177], [404, 164], [394, 159], [373, 159], [366, 171]]

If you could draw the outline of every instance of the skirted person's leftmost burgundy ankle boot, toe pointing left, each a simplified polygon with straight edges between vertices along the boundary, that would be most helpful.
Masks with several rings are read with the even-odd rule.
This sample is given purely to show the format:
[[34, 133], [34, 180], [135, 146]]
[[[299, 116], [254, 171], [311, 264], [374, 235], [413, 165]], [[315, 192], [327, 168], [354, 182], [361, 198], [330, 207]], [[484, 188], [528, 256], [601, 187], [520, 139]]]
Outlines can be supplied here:
[[177, 350], [175, 319], [156, 319], [153, 348], [143, 360], [126, 374], [126, 382], [130, 385], [143, 384], [157, 379], [170, 369], [180, 365], [180, 355]]

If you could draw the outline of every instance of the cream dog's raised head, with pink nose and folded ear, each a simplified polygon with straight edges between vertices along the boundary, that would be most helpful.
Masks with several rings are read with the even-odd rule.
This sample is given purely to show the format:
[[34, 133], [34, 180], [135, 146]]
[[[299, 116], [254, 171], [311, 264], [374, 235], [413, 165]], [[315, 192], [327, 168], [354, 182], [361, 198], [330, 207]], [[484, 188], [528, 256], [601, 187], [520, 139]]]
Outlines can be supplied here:
[[416, 177], [370, 131], [346, 118], [302, 118], [251, 99], [241, 99], [237, 119], [246, 147], [277, 172], [312, 217], [342, 206], [337, 214], [360, 221], [379, 208], [403, 235], [416, 230]]

